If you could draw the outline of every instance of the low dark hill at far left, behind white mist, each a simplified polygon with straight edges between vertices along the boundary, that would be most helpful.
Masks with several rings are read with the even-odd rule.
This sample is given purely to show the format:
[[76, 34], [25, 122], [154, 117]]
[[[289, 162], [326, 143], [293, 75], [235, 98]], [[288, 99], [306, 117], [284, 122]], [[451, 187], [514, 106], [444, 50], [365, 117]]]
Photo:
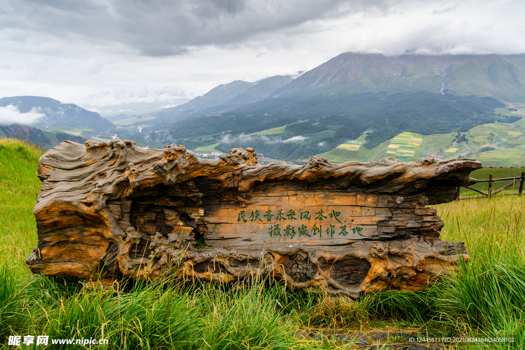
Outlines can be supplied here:
[[97, 131], [115, 128], [115, 125], [99, 113], [88, 111], [76, 104], [62, 103], [48, 97], [15, 96], [0, 99], [0, 107], [14, 105], [20, 113], [36, 110], [44, 114], [37, 121], [38, 125], [50, 126], [86, 126]]

